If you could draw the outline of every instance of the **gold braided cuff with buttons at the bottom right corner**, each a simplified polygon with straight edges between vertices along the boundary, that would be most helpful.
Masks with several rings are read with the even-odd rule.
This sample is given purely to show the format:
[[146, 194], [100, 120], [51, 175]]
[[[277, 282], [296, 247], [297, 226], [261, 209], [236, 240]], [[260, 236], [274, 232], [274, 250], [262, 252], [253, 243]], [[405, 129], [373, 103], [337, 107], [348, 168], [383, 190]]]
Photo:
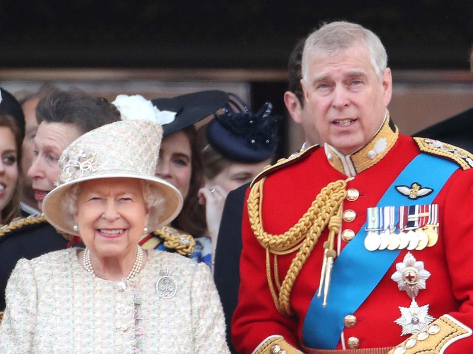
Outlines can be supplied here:
[[[432, 330], [435, 326], [439, 327], [438, 332], [437, 329]], [[445, 345], [448, 346], [448, 342], [458, 336], [465, 336], [469, 332], [471, 333], [471, 330], [468, 327], [461, 326], [447, 316], [441, 316], [432, 322], [425, 331], [410, 336], [388, 354], [438, 354]]]

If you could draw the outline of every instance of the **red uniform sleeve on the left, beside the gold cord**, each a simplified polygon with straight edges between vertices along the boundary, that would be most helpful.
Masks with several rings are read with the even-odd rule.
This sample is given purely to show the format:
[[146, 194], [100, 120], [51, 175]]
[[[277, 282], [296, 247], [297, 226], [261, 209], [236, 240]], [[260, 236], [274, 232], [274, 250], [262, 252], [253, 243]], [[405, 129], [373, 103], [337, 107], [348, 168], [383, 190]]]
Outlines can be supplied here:
[[233, 345], [238, 353], [252, 353], [267, 337], [281, 335], [297, 347], [296, 323], [278, 312], [269, 291], [266, 253], [256, 240], [248, 219], [248, 194], [249, 191], [245, 198], [242, 223], [239, 298], [232, 318]]

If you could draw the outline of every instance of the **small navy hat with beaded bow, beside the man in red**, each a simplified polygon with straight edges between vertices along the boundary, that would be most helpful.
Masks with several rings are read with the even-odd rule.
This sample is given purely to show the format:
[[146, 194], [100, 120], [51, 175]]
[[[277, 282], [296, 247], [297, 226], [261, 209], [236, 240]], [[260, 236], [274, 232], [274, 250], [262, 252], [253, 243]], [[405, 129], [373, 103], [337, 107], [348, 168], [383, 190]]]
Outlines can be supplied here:
[[236, 95], [215, 113], [207, 126], [207, 140], [224, 157], [256, 163], [269, 159], [278, 147], [278, 120], [273, 105], [265, 103], [256, 113]]

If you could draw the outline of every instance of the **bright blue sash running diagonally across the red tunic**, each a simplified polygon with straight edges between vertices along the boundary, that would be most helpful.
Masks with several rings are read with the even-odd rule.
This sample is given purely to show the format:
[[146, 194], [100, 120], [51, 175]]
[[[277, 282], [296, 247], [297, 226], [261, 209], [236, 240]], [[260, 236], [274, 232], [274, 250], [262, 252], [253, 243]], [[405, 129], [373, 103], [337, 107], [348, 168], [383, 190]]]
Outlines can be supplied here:
[[[458, 165], [452, 161], [421, 153], [404, 168], [377, 207], [419, 204], [419, 200], [409, 199], [395, 188], [397, 185], [410, 186], [413, 182], [434, 190], [420, 199], [421, 204], [432, 204], [457, 169]], [[368, 251], [364, 248], [365, 227], [366, 223], [334, 262], [327, 306], [322, 307], [323, 299], [316, 295], [309, 305], [302, 327], [302, 341], [306, 347], [335, 349], [344, 328], [344, 317], [355, 313], [400, 253], [400, 250], [387, 249]]]

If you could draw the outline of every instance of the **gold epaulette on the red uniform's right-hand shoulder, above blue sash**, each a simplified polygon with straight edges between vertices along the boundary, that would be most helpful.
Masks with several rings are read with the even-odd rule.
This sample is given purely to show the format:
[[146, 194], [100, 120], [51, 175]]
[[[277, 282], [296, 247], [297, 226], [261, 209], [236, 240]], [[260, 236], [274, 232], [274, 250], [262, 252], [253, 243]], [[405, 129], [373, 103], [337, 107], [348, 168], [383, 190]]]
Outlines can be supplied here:
[[423, 152], [453, 160], [464, 170], [473, 167], [473, 154], [461, 147], [429, 138], [414, 138], [414, 141]]

